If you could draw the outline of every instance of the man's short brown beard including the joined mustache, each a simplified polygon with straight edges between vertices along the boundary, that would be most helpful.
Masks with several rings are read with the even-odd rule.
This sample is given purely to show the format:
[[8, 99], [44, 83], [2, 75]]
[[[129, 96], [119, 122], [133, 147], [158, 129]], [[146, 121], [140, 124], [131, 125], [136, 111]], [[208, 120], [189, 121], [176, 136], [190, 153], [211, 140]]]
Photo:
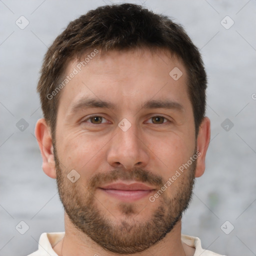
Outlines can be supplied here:
[[[75, 183], [70, 182], [66, 177], [68, 171], [63, 174], [59, 166], [55, 149], [53, 153], [58, 193], [66, 214], [79, 231], [107, 251], [131, 254], [149, 248], [173, 229], [191, 200], [196, 160], [178, 177], [180, 187], [178, 191], [174, 191], [175, 195], [168, 198], [164, 191], [155, 202], [148, 201], [148, 203], [155, 203], [157, 207], [147, 220], [138, 221], [136, 216], [139, 215], [139, 211], [136, 205], [126, 202], [118, 204], [125, 218], [110, 220], [96, 205], [96, 203], [104, 204], [104, 202], [98, 202], [94, 196], [99, 183], [116, 179], [136, 180], [156, 185], [160, 189], [164, 183], [162, 177], [141, 168], [133, 168], [131, 171], [115, 169], [95, 174], [85, 186], [78, 182], [79, 180]], [[111, 213], [111, 208], [107, 210]], [[143, 210], [146, 210], [146, 204]]]

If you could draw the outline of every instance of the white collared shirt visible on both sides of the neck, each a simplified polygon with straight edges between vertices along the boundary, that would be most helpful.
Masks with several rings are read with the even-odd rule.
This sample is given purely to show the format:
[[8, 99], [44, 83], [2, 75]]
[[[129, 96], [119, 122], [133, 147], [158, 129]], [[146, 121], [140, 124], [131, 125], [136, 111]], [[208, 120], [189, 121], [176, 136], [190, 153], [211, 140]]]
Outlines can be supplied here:
[[[38, 250], [28, 256], [58, 256], [52, 249], [64, 236], [65, 232], [42, 233], [38, 242]], [[204, 250], [198, 237], [181, 234], [181, 241], [195, 248], [194, 256], [224, 256], [215, 252]]]

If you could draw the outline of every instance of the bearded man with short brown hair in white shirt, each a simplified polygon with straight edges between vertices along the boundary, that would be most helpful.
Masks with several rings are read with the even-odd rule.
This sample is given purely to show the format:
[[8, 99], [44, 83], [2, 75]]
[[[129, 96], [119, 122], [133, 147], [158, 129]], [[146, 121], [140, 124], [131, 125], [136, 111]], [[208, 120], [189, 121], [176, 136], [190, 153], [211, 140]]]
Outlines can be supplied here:
[[219, 255], [181, 235], [210, 139], [205, 89], [197, 48], [166, 16], [125, 3], [70, 22], [46, 52], [35, 127], [65, 232], [30, 255]]

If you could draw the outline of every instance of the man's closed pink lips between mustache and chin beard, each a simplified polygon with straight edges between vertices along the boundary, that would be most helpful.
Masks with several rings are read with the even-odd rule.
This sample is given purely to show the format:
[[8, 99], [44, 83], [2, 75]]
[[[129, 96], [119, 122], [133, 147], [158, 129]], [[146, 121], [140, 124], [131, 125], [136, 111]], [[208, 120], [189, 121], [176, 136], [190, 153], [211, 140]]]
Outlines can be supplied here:
[[111, 183], [105, 186], [99, 187], [99, 189], [106, 193], [108, 196], [115, 197], [121, 201], [134, 201], [148, 196], [154, 190], [154, 187], [150, 187], [143, 183]]

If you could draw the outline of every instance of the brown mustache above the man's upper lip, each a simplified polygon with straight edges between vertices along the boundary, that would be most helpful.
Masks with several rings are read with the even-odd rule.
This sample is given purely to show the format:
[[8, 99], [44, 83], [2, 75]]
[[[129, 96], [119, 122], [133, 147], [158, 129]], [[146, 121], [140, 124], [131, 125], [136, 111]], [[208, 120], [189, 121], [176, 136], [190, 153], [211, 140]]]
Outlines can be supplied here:
[[93, 189], [104, 183], [115, 181], [117, 179], [121, 180], [134, 180], [139, 182], [146, 182], [150, 185], [155, 185], [158, 187], [163, 186], [163, 178], [151, 171], [142, 169], [140, 167], [134, 167], [132, 169], [125, 169], [123, 167], [106, 171], [99, 172], [93, 175], [88, 181], [88, 188]]

